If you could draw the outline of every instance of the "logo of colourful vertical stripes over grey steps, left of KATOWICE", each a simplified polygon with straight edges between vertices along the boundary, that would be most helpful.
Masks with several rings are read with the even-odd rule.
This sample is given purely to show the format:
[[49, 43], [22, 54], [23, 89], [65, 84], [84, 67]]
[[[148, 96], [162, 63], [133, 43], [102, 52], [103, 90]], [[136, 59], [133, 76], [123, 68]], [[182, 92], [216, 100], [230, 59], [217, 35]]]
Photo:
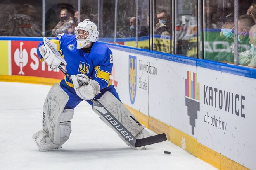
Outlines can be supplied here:
[[187, 114], [189, 116], [189, 124], [191, 125], [191, 134], [194, 135], [195, 119], [197, 119], [197, 112], [200, 111], [200, 86], [197, 82], [197, 73], [187, 71], [187, 79], [185, 79], [185, 91]]

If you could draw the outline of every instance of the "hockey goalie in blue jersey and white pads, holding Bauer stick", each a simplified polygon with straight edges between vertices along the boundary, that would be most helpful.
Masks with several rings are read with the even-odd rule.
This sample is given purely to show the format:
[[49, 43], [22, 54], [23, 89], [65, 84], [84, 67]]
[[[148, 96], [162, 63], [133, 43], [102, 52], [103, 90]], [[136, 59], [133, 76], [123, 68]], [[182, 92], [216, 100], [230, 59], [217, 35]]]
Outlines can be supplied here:
[[[131, 148], [141, 149], [166, 140], [165, 134], [152, 136], [122, 104], [109, 82], [113, 54], [97, 41], [98, 35], [95, 23], [84, 20], [75, 28], [74, 36], [59, 34], [39, 43], [41, 61], [66, 75], [48, 92], [43, 105], [43, 129], [32, 136], [40, 151], [61, 148], [69, 139], [74, 108], [83, 100]], [[66, 65], [66, 71], [60, 65]]]

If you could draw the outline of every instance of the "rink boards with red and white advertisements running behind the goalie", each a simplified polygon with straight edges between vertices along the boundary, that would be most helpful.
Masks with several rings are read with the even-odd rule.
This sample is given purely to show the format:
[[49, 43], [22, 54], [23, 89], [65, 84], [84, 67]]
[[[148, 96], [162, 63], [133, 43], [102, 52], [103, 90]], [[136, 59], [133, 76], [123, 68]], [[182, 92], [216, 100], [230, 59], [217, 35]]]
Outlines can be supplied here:
[[[62, 79], [36, 57], [39, 41], [0, 41], [0, 80]], [[107, 45], [114, 54], [111, 82], [145, 126], [216, 168], [254, 169], [255, 69]]]

